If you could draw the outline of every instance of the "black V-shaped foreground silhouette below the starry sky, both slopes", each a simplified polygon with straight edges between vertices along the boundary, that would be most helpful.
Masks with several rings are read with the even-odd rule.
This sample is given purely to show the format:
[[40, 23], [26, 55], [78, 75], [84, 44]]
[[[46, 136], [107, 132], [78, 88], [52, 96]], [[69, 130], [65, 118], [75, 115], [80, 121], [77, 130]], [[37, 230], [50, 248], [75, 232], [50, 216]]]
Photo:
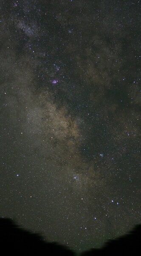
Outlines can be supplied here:
[[[136, 256], [141, 255], [141, 225], [125, 236], [109, 240], [100, 249], [91, 249], [80, 253], [81, 256]], [[17, 226], [13, 220], [0, 218], [0, 250], [1, 255], [46, 255], [74, 256], [72, 250], [58, 243], [46, 242], [37, 234], [33, 234]]]

